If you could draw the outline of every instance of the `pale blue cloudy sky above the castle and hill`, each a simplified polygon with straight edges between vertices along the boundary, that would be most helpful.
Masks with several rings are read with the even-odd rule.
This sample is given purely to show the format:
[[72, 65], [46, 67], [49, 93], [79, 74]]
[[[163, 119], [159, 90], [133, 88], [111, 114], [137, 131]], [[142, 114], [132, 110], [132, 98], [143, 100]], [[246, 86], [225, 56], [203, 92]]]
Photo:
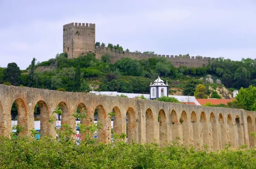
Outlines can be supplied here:
[[256, 58], [256, 0], [0, 0], [0, 16], [0, 67], [55, 58], [67, 23], [130, 51]]

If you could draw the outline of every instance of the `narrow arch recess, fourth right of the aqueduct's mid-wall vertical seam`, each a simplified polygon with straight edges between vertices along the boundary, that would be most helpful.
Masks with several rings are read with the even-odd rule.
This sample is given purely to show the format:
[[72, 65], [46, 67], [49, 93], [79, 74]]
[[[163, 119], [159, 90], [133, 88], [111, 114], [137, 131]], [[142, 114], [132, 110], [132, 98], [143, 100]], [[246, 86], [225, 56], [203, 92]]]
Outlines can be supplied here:
[[187, 113], [185, 110], [182, 111], [181, 116], [180, 116], [180, 123], [182, 125], [182, 133], [183, 133], [183, 144], [187, 148], [189, 148], [190, 144], [190, 133], [189, 133], [189, 124], [188, 124], [188, 117]]

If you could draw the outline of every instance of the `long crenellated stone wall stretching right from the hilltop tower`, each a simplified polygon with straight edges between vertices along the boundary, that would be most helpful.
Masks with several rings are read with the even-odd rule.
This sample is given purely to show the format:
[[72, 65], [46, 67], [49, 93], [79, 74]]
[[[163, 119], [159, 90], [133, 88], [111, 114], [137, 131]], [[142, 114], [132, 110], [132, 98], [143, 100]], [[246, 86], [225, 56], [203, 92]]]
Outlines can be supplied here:
[[175, 67], [179, 66], [186, 66], [188, 68], [198, 68], [209, 65], [209, 62], [211, 60], [214, 60], [215, 58], [210, 57], [199, 57], [199, 56], [188, 56], [186, 58], [179, 57], [177, 55], [148, 55], [148, 54], [136, 54], [135, 52], [124, 52], [124, 51], [114, 51], [114, 49], [106, 48], [106, 47], [100, 47], [96, 48], [95, 50], [96, 58], [101, 60], [101, 57], [103, 55], [109, 55], [110, 62], [115, 63], [118, 60], [121, 60], [122, 58], [129, 57], [131, 59], [149, 59], [152, 57], [166, 57], [168, 61], [172, 62], [172, 65]]

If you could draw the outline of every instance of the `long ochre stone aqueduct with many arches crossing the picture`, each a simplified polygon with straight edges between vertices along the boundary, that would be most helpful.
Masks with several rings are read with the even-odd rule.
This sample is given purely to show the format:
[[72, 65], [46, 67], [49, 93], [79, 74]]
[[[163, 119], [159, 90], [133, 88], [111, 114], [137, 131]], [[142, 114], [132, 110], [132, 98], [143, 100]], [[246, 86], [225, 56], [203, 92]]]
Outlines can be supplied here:
[[[235, 149], [241, 145], [255, 146], [250, 132], [256, 131], [256, 112], [221, 107], [203, 107], [160, 101], [96, 96], [29, 87], [0, 85], [0, 135], [9, 137], [11, 132], [11, 109], [13, 102], [18, 109], [18, 124], [25, 127], [24, 135], [34, 128], [34, 108], [40, 107], [41, 136], [56, 136], [55, 125], [49, 123], [52, 112], [59, 105], [63, 111], [61, 124], [76, 127], [71, 116], [76, 108], [87, 110], [88, 118], [82, 124], [94, 122], [94, 112], [103, 124], [99, 137], [101, 142], [111, 140], [111, 119], [108, 113], [116, 113], [113, 132], [126, 133], [128, 143], [164, 143], [178, 141], [184, 146], [201, 149], [208, 145], [212, 150], [224, 149], [230, 143]], [[127, 126], [127, 130], [126, 130]]]

